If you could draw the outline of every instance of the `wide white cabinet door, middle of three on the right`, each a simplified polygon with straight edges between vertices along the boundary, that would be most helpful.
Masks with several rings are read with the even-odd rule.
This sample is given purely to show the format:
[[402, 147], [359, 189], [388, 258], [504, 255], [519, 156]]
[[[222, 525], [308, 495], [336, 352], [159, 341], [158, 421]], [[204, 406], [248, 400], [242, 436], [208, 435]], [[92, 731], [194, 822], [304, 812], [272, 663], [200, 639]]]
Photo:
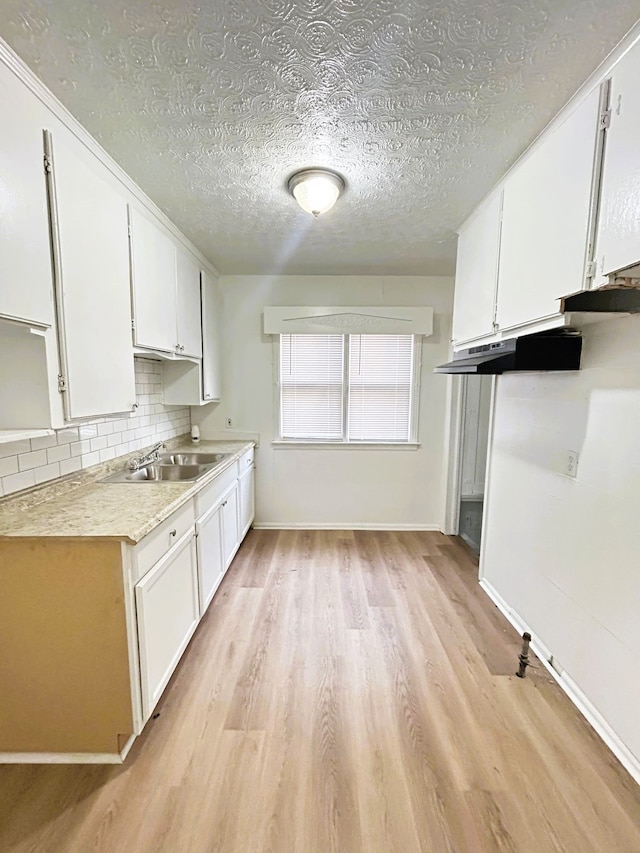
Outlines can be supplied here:
[[592, 92], [505, 183], [497, 323], [520, 326], [560, 312], [585, 287], [600, 92]]

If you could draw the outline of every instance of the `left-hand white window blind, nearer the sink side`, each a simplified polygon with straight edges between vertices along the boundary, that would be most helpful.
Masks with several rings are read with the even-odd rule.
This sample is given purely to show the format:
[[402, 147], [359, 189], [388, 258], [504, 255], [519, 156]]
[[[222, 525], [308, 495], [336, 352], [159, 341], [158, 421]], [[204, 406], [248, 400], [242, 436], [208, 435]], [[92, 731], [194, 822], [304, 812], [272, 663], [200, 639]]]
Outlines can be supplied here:
[[340, 440], [344, 335], [280, 336], [282, 438]]

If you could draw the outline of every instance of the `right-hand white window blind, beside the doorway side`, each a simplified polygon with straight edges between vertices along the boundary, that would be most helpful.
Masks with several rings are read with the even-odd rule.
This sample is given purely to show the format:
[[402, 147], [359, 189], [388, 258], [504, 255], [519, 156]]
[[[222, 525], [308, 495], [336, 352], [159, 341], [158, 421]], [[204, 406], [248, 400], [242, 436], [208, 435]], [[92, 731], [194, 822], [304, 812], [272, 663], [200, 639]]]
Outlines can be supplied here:
[[409, 441], [412, 335], [349, 335], [349, 441]]

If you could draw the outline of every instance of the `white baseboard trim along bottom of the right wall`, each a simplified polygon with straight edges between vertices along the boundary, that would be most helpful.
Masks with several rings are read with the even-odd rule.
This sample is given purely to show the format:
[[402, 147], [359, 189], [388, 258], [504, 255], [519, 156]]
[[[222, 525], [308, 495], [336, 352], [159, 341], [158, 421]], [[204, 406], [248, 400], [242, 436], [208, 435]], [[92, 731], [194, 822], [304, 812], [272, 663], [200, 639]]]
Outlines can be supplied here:
[[604, 719], [602, 714], [600, 714], [598, 709], [591, 703], [588, 697], [585, 696], [575, 681], [567, 675], [564, 670], [559, 672], [554, 669], [550, 663], [552, 659], [552, 652], [547, 649], [544, 643], [540, 642], [538, 637], [535, 636], [531, 631], [531, 628], [524, 622], [520, 615], [509, 607], [507, 602], [491, 585], [491, 583], [489, 583], [486, 578], [483, 578], [480, 580], [480, 586], [519, 634], [522, 634], [525, 631], [528, 631], [531, 634], [532, 651], [537, 655], [545, 668], [551, 673], [553, 678], [557, 681], [586, 721], [606, 743], [611, 752], [615, 755], [625, 770], [627, 770], [629, 775], [632, 776], [638, 785], [640, 785], [640, 759], [638, 759], [624, 744], [616, 732], [611, 728], [609, 723]]

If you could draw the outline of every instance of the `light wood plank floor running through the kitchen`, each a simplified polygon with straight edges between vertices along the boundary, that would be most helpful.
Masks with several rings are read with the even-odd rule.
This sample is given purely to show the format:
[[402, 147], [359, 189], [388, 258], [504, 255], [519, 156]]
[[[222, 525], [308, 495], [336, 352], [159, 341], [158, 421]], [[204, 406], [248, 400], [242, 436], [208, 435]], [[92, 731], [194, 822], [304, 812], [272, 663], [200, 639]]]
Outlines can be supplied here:
[[438, 533], [251, 531], [124, 766], [0, 767], [0, 851], [638, 853], [476, 578]]

